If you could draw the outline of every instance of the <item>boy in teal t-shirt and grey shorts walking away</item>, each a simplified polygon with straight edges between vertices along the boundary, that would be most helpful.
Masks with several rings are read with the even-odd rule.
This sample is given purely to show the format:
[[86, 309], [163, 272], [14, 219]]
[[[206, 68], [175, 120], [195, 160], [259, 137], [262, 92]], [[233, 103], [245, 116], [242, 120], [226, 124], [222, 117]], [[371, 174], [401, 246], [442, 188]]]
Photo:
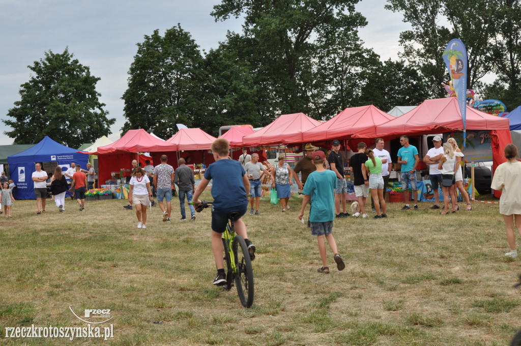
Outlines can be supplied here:
[[326, 154], [323, 151], [315, 151], [313, 154], [313, 163], [317, 168], [316, 171], [309, 174], [304, 185], [304, 199], [302, 200], [302, 208], [300, 210], [299, 219], [304, 216], [304, 208], [311, 198], [311, 213], [309, 221], [311, 234], [317, 236], [318, 251], [322, 259], [322, 267], [318, 269], [318, 273], [329, 274], [326, 256], [327, 239], [331, 251], [334, 253], [334, 262], [337, 263], [338, 270], [345, 268], [342, 257], [338, 254], [337, 243], [334, 241], [333, 229], [334, 220], [334, 189], [337, 188], [337, 175], [325, 167], [324, 160]]

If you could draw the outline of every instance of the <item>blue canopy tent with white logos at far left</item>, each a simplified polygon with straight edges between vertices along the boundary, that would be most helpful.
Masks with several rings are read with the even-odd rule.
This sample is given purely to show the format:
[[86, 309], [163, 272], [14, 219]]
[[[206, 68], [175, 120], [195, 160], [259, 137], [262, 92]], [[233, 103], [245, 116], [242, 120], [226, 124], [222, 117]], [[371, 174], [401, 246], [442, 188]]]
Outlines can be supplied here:
[[[30, 147], [28, 150], [7, 157], [9, 163], [9, 174], [17, 189], [14, 197], [17, 200], [35, 200], [34, 184], [32, 174], [36, 169], [36, 162], [54, 163], [61, 167], [62, 171], [66, 171], [70, 167], [71, 162], [86, 167], [89, 160], [88, 154], [81, 154], [77, 149], [69, 148], [61, 145], [49, 137], [45, 138], [38, 144]], [[45, 167], [45, 165], [44, 165]], [[51, 174], [52, 172], [47, 172]]]

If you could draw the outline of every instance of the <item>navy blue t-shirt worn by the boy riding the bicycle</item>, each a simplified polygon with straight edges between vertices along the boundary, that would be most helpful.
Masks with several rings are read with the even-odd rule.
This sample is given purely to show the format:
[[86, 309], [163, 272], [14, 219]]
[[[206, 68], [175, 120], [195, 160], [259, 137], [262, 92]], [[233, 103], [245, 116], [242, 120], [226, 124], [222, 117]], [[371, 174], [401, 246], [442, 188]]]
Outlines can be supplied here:
[[213, 179], [212, 196], [214, 209], [242, 211], [248, 199], [242, 177], [246, 174], [242, 165], [235, 160], [222, 159], [209, 165], [204, 177]]

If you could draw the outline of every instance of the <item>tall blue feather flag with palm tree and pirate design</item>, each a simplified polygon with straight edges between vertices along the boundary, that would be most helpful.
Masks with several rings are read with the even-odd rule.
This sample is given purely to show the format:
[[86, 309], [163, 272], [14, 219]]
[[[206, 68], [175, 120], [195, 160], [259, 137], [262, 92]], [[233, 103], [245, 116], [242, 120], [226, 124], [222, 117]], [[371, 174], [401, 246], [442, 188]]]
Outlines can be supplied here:
[[[461, 40], [453, 39], [449, 42], [443, 51], [443, 61], [449, 69], [465, 133], [467, 129], [467, 50]], [[465, 142], [463, 145], [465, 146]]]

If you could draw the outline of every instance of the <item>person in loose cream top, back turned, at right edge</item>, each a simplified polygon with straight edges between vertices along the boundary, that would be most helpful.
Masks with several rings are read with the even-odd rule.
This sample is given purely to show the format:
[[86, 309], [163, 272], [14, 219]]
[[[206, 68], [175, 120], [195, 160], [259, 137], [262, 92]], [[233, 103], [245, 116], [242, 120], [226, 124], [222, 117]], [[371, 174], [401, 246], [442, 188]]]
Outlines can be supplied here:
[[516, 258], [514, 221], [517, 232], [521, 234], [521, 162], [517, 160], [517, 147], [514, 144], [505, 146], [505, 158], [506, 162], [495, 170], [491, 188], [501, 191], [499, 213], [503, 215], [506, 239], [510, 245], [510, 252], [505, 253], [505, 256]]

